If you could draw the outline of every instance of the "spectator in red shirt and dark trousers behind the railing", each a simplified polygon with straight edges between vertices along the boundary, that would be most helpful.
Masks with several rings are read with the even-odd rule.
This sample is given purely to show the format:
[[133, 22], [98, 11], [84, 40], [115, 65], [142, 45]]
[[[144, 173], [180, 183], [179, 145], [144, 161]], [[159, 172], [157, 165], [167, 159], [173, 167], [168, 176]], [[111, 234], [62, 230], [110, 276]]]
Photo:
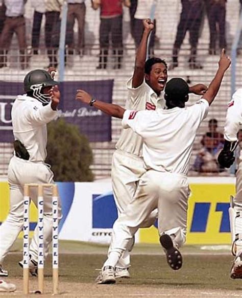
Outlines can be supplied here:
[[[121, 68], [123, 58], [123, 6], [127, 0], [91, 0], [93, 9], [100, 8], [100, 57], [98, 69], [107, 67], [109, 35], [111, 34], [114, 68]], [[128, 6], [128, 5], [127, 5]]]

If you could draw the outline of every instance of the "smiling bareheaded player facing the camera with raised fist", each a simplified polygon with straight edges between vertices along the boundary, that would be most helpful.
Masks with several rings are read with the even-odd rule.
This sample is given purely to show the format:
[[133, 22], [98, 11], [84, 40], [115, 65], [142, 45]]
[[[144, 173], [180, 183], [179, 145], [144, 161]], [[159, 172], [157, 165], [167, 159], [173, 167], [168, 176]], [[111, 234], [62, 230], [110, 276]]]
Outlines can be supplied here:
[[[165, 101], [162, 91], [167, 81], [167, 65], [160, 58], [151, 58], [146, 61], [148, 37], [154, 24], [150, 19], [143, 20], [144, 32], [136, 54], [133, 77], [127, 82], [128, 99], [126, 109], [155, 110], [164, 108]], [[202, 95], [207, 87], [197, 84], [189, 87], [189, 92]], [[112, 189], [118, 214], [120, 214], [132, 201], [137, 190], [138, 180], [145, 172], [142, 158], [142, 138], [134, 133], [131, 128], [122, 129], [116, 144], [116, 151], [112, 157]], [[152, 212], [143, 227], [154, 224], [157, 211]], [[130, 250], [128, 249], [120, 258], [116, 266], [116, 277], [129, 277]]]

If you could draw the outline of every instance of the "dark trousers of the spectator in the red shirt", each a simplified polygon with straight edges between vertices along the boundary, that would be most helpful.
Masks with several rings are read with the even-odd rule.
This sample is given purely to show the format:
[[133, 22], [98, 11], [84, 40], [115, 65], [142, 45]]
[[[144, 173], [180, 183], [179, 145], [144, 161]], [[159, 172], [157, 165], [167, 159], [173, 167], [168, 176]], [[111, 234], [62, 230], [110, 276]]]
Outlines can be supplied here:
[[[115, 57], [114, 67], [120, 68], [123, 58], [123, 16], [113, 18], [101, 18], [99, 29], [100, 40], [100, 63], [106, 68], [107, 54], [109, 48], [109, 37], [111, 37], [113, 55]], [[100, 65], [102, 66], [102, 65]]]

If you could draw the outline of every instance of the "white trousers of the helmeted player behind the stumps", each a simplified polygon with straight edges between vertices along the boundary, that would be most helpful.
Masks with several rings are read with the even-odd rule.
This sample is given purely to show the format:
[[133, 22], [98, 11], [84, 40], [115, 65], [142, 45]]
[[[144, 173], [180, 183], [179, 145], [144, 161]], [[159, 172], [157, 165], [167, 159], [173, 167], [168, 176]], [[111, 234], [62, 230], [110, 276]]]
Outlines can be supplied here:
[[[16, 156], [10, 160], [8, 168], [8, 182], [10, 187], [10, 211], [5, 222], [0, 226], [0, 264], [17, 239], [23, 227], [23, 186], [29, 183], [53, 184], [53, 172], [44, 163], [25, 161]], [[30, 189], [30, 197], [37, 206], [37, 188]], [[52, 241], [52, 190], [44, 189], [44, 257], [46, 258]], [[58, 218], [61, 219], [61, 201], [58, 200]], [[30, 255], [38, 260], [38, 227], [30, 244]]]

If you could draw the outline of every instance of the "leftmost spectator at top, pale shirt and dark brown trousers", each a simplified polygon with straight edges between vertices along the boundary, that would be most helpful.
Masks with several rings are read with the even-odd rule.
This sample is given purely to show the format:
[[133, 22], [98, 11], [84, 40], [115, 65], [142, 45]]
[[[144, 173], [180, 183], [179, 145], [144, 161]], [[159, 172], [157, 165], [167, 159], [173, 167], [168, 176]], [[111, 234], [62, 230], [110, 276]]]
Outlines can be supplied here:
[[18, 39], [21, 68], [28, 67], [24, 16], [26, 2], [27, 0], [4, 0], [6, 19], [0, 39], [0, 68], [7, 66], [7, 53], [12, 42], [13, 33], [16, 33]]

